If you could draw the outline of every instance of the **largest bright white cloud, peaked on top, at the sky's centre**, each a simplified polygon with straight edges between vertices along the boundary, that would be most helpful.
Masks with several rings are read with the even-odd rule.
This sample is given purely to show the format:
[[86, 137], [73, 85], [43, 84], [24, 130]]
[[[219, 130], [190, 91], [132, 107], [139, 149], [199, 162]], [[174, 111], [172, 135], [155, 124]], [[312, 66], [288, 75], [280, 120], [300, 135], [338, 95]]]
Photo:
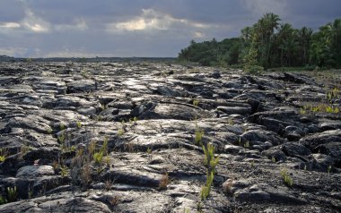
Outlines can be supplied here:
[[216, 27], [196, 21], [174, 18], [170, 14], [160, 13], [153, 9], [142, 9], [142, 15], [128, 21], [107, 24], [109, 32], [136, 31], [136, 30], [171, 30], [179, 27], [208, 29]]

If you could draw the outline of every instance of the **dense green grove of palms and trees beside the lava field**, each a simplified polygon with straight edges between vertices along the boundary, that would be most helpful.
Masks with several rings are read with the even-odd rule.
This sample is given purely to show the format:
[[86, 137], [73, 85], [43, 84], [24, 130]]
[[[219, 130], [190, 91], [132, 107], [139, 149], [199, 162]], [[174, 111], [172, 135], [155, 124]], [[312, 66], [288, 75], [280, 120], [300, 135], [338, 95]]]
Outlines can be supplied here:
[[241, 30], [240, 38], [215, 39], [197, 43], [179, 53], [180, 61], [201, 65], [250, 67], [341, 67], [341, 19], [321, 26], [318, 31], [293, 29], [280, 23], [274, 13], [266, 13], [251, 27]]

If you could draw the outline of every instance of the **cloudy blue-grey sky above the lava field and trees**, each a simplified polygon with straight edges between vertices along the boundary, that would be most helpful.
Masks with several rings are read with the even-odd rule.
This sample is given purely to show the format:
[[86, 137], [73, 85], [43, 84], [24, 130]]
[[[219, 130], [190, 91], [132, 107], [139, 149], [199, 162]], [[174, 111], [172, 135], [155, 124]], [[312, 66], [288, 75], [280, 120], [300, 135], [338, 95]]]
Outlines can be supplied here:
[[0, 0], [0, 55], [175, 57], [265, 13], [318, 30], [341, 18], [341, 0]]

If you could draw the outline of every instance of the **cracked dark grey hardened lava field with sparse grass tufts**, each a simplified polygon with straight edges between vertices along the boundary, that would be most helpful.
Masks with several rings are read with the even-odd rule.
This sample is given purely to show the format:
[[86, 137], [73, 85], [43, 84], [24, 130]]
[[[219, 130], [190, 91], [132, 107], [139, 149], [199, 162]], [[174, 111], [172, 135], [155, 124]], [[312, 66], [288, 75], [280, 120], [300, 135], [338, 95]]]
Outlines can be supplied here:
[[0, 64], [0, 212], [340, 212], [340, 81], [314, 76]]

